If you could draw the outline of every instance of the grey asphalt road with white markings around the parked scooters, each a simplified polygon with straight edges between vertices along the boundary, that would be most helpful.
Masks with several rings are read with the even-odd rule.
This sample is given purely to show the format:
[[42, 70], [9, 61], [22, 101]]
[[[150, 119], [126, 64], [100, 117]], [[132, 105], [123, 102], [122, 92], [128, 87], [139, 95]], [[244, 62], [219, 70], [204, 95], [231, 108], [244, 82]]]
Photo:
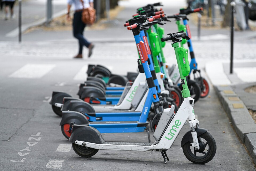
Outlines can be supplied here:
[[[97, 43], [98, 48], [106, 49], [105, 58], [95, 55], [91, 59], [73, 60], [68, 55], [47, 55], [47, 49], [52, 49], [49, 43], [35, 43], [33, 46], [44, 49], [45, 53], [39, 51], [26, 55], [20, 51], [19, 55], [17, 50], [13, 51], [13, 55], [1, 54], [1, 59], [4, 59], [0, 63], [1, 170], [49, 170], [52, 167], [59, 170], [255, 170], [213, 87], [209, 98], [200, 99], [194, 106], [200, 127], [209, 129], [217, 143], [216, 155], [209, 163], [193, 164], [184, 156], [180, 143], [185, 132], [190, 130], [187, 125], [167, 151], [171, 159], [167, 164], [163, 163], [158, 152], [99, 150], [91, 158], [79, 157], [63, 137], [59, 126], [61, 118], [53, 113], [47, 101], [51, 92], [64, 91], [76, 96], [77, 84], [82, 82], [79, 79], [83, 79], [81, 72], [88, 63], [104, 64], [112, 68], [113, 73], [135, 71], [137, 54], [135, 51], [129, 55], [129, 51], [135, 48], [133, 43]], [[67, 47], [62, 46], [63, 51], [76, 47], [74, 43], [71, 45], [72, 42], [67, 44]], [[58, 45], [61, 46], [61, 43]], [[3, 46], [1, 52], [4, 52]], [[26, 48], [29, 44], [22, 46]], [[109, 54], [115, 49], [126, 52], [126, 55], [111, 58]], [[171, 63], [174, 58], [167, 58], [167, 61]], [[206, 76], [204, 71], [202, 74]], [[111, 133], [103, 137], [106, 141], [147, 142], [146, 132]], [[151, 140], [154, 141], [153, 133]], [[63, 150], [66, 152], [61, 152]]]

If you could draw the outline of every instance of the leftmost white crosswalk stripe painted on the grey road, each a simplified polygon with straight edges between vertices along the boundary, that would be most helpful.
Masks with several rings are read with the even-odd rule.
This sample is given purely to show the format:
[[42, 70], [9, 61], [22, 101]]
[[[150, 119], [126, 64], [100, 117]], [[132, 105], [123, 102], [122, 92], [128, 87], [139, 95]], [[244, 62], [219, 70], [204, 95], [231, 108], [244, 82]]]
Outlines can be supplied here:
[[41, 78], [55, 67], [54, 64], [26, 64], [13, 72], [11, 78]]

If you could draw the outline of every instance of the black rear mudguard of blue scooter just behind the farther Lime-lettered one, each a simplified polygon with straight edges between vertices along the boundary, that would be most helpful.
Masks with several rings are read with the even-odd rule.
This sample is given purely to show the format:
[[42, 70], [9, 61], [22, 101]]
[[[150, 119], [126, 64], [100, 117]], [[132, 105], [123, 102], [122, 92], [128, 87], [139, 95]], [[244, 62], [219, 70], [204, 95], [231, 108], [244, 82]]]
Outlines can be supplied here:
[[83, 93], [80, 98], [89, 103], [90, 96], [105, 97], [106, 94], [100, 88], [97, 87], [83, 87]]

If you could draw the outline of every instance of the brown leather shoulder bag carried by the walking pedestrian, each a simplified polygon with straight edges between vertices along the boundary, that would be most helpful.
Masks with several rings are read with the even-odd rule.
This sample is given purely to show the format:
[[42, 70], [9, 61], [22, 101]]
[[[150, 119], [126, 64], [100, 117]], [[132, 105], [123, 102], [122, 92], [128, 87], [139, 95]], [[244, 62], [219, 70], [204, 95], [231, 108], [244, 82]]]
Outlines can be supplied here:
[[[83, 5], [83, 0], [81, 0]], [[84, 8], [83, 5], [83, 12], [82, 12], [82, 22], [85, 24], [92, 25], [96, 19], [96, 10], [92, 7]]]

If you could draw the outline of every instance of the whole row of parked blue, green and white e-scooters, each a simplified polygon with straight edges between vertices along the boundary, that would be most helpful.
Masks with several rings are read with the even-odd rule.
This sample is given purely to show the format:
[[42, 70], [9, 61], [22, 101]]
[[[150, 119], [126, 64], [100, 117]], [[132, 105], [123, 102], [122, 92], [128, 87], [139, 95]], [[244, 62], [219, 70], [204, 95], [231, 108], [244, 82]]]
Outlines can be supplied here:
[[[62, 134], [69, 139], [79, 156], [91, 157], [101, 150], [156, 151], [164, 162], [187, 119], [191, 131], [182, 138], [183, 153], [193, 163], [205, 164], [216, 153], [216, 143], [207, 129], [199, 128], [194, 103], [209, 93], [209, 85], [200, 75], [190, 40], [187, 15], [199, 9], [180, 9], [179, 14], [166, 16], [161, 3], [137, 9], [137, 14], [124, 26], [133, 33], [138, 49], [139, 73], [114, 75], [104, 66], [89, 65], [88, 78], [80, 84], [78, 96], [53, 92], [50, 104], [62, 116]], [[174, 18], [178, 32], [164, 37], [164, 25]], [[183, 24], [181, 24], [183, 21]], [[171, 40], [177, 66], [167, 64], [162, 48]], [[179, 47], [187, 42], [188, 50]], [[169, 48], [169, 47], [168, 47]], [[190, 79], [193, 70], [194, 79]], [[178, 81], [181, 83], [178, 84]], [[191, 98], [193, 96], [193, 98]], [[102, 133], [144, 132], [148, 143], [105, 141]], [[149, 132], [154, 131], [154, 143]]]

